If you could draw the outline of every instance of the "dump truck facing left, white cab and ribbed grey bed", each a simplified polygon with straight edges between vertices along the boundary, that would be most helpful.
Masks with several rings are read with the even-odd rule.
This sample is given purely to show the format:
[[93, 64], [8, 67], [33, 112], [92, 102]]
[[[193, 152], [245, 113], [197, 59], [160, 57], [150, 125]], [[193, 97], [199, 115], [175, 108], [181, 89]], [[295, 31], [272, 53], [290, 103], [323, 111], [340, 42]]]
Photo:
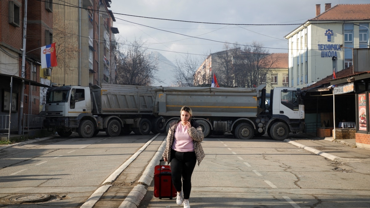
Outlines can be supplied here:
[[44, 127], [61, 136], [78, 132], [90, 138], [105, 131], [115, 137], [134, 131], [165, 131], [165, 119], [153, 114], [155, 91], [150, 86], [101, 84], [48, 88]]

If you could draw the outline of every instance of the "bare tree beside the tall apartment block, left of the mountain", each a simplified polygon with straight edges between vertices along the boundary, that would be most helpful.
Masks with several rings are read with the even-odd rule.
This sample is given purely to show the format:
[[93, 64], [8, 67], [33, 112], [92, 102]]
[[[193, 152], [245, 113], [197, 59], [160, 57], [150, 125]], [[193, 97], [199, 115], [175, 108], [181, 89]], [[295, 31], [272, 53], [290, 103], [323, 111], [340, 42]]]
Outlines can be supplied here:
[[150, 56], [144, 42], [136, 40], [124, 42], [117, 53], [117, 84], [151, 85], [158, 71], [158, 59]]

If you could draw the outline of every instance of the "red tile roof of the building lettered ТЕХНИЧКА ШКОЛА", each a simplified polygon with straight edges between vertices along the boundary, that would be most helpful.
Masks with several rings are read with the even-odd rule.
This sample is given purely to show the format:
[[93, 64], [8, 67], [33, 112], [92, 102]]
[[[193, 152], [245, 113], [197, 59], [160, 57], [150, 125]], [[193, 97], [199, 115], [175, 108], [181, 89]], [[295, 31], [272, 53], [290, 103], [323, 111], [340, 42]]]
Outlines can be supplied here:
[[309, 21], [369, 20], [370, 4], [337, 4]]

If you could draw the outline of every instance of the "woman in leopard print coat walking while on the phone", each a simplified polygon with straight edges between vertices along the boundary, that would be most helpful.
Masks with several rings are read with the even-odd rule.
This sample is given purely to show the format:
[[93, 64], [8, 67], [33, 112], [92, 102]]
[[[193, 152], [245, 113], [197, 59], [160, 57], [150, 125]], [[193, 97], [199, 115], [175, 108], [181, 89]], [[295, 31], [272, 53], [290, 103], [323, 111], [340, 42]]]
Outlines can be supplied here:
[[191, 175], [196, 161], [199, 166], [204, 158], [201, 145], [204, 135], [200, 125], [191, 118], [191, 108], [182, 107], [180, 116], [180, 120], [171, 123], [163, 158], [171, 164], [172, 183], [177, 191], [176, 204], [190, 208]]

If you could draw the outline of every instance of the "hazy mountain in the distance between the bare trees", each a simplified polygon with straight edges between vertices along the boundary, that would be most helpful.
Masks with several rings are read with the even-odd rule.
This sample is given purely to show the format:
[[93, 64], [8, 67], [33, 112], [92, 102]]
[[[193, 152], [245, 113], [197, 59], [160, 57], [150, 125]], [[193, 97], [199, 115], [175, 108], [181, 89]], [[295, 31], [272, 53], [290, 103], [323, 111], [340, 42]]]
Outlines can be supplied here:
[[159, 78], [159, 80], [163, 80], [163, 83], [155, 81], [153, 86], [170, 87], [175, 79], [175, 64], [157, 51], [151, 51], [150, 56], [153, 58], [158, 58], [158, 71], [156, 73], [156, 76]]

